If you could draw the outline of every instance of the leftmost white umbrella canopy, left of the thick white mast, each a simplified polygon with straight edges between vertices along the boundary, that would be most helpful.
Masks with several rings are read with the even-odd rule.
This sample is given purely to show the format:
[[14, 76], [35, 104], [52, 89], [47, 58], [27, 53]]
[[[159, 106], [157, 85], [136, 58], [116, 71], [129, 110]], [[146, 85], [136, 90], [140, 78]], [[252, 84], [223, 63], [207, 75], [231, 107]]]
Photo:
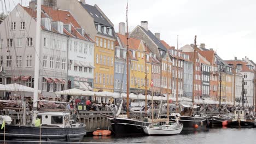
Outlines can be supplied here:
[[[5, 85], [5, 89], [6, 89], [5, 91], [34, 92], [34, 88], [19, 85], [17, 83], [12, 83], [12, 84], [9, 84], [9, 85]], [[40, 93], [40, 92], [41, 91], [38, 90], [38, 93]]]

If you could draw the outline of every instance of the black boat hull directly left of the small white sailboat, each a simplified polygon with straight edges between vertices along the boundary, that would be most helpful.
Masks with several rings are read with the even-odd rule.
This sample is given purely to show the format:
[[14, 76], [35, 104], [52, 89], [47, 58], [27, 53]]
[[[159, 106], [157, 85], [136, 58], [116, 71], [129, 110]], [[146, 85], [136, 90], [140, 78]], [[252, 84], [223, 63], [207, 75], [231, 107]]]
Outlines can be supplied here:
[[110, 124], [115, 135], [146, 135], [143, 128], [150, 123], [125, 118], [111, 118]]

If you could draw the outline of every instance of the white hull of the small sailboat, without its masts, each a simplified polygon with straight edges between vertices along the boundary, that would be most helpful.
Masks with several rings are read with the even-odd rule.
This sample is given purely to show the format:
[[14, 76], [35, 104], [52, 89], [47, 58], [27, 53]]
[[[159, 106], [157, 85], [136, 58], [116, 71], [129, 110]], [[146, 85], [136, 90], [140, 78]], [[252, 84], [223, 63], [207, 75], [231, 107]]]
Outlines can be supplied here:
[[146, 127], [144, 128], [144, 133], [146, 133], [147, 135], [177, 135], [181, 133], [182, 128], [182, 123], [179, 123], [177, 127], [174, 127], [172, 129]]

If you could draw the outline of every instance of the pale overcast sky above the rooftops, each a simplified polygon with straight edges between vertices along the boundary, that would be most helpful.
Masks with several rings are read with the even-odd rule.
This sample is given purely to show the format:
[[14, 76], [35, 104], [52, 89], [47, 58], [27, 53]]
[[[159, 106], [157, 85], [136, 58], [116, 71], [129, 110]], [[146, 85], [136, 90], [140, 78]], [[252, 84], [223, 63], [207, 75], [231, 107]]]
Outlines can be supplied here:
[[[1, 0], [0, 0], [1, 1]], [[5, 0], [8, 10], [28, 0]], [[127, 0], [86, 0], [97, 4], [114, 24], [126, 21]], [[0, 11], [2, 11], [2, 4]], [[10, 8], [9, 8], [10, 7]], [[256, 1], [254, 0], [129, 0], [129, 30], [148, 21], [153, 33], [161, 40], [179, 47], [205, 43], [223, 59], [242, 59], [247, 56], [256, 62]]]

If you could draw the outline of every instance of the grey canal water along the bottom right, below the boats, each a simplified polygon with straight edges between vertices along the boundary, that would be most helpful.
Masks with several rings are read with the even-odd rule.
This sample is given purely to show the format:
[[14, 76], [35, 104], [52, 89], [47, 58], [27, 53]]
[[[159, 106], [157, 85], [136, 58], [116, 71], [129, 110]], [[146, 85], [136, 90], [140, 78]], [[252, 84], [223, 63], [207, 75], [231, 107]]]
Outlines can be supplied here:
[[83, 142], [88, 143], [256, 143], [256, 128], [235, 129], [235, 128], [213, 128], [205, 131], [190, 131], [180, 135], [172, 136], [132, 136], [132, 137], [115, 137], [115, 136], [87, 136]]

